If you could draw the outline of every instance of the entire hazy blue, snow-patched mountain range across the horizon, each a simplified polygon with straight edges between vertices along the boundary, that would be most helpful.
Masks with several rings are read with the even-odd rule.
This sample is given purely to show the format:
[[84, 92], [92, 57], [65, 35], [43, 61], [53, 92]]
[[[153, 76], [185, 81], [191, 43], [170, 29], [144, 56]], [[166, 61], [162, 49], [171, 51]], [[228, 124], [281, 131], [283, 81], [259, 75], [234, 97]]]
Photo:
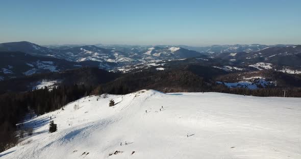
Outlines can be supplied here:
[[103, 44], [41, 46], [26, 41], [9, 42], [0, 44], [0, 80], [85, 66], [122, 72], [153, 66], [164, 70], [179, 61], [184, 64], [202, 61], [208, 66], [224, 70], [231, 70], [228, 69], [230, 65], [237, 70], [275, 69], [298, 73], [301, 68], [300, 53], [301, 45], [282, 44], [206, 47]]

